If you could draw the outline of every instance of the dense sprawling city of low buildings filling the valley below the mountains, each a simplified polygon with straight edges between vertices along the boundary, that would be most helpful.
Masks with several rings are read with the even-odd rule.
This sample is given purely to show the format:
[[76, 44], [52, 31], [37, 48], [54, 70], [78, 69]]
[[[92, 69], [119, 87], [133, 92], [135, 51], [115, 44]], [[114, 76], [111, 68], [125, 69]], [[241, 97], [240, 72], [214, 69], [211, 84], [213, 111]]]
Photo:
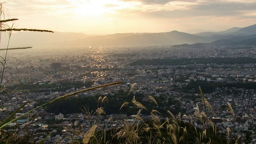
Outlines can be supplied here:
[[[213, 112], [208, 112], [208, 118], [218, 126], [218, 133], [227, 133], [232, 129], [230, 137], [242, 137], [249, 142], [256, 141], [256, 47], [244, 45], [214, 45], [192, 46], [148, 46], [148, 47], [80, 47], [80, 48], [31, 48], [12, 50], [7, 54], [7, 68], [4, 72], [2, 85], [8, 96], [2, 98], [2, 117], [8, 116], [25, 102], [26, 106], [15, 116], [29, 112], [38, 103], [47, 102], [68, 93], [85, 88], [122, 81], [121, 84], [86, 91], [72, 97], [91, 98], [96, 101], [100, 96], [106, 96], [110, 109], [100, 116], [100, 130], [118, 128], [122, 122], [131, 121], [143, 123], [150, 114], [140, 114], [142, 120], [134, 119], [136, 112], [131, 105], [120, 112], [122, 103], [127, 97], [135, 97], [139, 102], [149, 103], [149, 97], [158, 100], [157, 110], [162, 112], [158, 117], [162, 120], [170, 117], [166, 113], [181, 113], [184, 123], [204, 129], [204, 124], [192, 115], [197, 106], [203, 110], [204, 104], [198, 86], [202, 88], [204, 97], [211, 104]], [[250, 63], [234, 62], [231, 64], [207, 63], [207, 58], [252, 58]], [[187, 64], [136, 64], [142, 60], [190, 60], [202, 58]], [[64, 82], [67, 84], [64, 85]], [[48, 87], [49, 86], [49, 87]], [[124, 95], [125, 98], [120, 98]], [[4, 96], [4, 95], [2, 95]], [[131, 98], [127, 100], [131, 100]], [[67, 99], [69, 101], [69, 99]], [[110, 101], [116, 101], [117, 106]], [[141, 100], [141, 101], [140, 101]], [[71, 101], [71, 100], [70, 100]], [[73, 101], [72, 101], [73, 102]], [[132, 103], [128, 101], [129, 103]], [[118, 105], [121, 103], [120, 105]], [[235, 116], [228, 111], [227, 104], [234, 109]], [[114, 103], [112, 103], [114, 104]], [[56, 104], [58, 105], [58, 104]], [[61, 105], [61, 104], [60, 104]], [[59, 106], [60, 106], [59, 105]], [[46, 105], [38, 110], [22, 116], [16, 122], [10, 123], [7, 129], [16, 129], [19, 136], [32, 135], [38, 143], [71, 143], [74, 138], [82, 139], [83, 134], [75, 134], [72, 128], [82, 126], [85, 133], [89, 130], [91, 121], [86, 118], [83, 110], [90, 105], [85, 103], [79, 110], [71, 107], [49, 108]], [[150, 105], [151, 106], [151, 105]], [[75, 107], [75, 106], [74, 106]], [[129, 110], [131, 109], [131, 110]], [[93, 110], [93, 108], [91, 109]], [[192, 116], [192, 122], [186, 116]], [[105, 120], [104, 120], [104, 119]], [[109, 120], [111, 118], [111, 120]]]

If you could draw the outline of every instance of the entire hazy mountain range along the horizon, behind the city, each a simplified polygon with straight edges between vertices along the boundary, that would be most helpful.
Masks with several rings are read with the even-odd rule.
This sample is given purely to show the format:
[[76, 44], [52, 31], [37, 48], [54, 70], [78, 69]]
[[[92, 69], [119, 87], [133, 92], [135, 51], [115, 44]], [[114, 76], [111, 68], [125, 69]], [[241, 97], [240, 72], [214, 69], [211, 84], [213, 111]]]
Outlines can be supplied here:
[[[1, 48], [8, 37], [2, 36]], [[189, 34], [171, 31], [160, 33], [117, 33], [92, 36], [75, 32], [16, 32], [10, 39], [10, 47], [76, 47], [76, 46], [160, 46], [180, 44], [248, 44], [256, 45], [256, 24], [244, 28], [230, 28], [221, 32]]]

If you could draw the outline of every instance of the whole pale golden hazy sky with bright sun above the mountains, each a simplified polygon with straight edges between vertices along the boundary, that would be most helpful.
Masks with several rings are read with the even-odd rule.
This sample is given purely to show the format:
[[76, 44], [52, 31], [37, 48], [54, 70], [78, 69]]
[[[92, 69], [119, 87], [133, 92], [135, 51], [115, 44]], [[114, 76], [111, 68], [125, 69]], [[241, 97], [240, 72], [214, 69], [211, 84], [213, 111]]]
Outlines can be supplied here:
[[256, 0], [10, 0], [17, 28], [113, 34], [256, 24]]

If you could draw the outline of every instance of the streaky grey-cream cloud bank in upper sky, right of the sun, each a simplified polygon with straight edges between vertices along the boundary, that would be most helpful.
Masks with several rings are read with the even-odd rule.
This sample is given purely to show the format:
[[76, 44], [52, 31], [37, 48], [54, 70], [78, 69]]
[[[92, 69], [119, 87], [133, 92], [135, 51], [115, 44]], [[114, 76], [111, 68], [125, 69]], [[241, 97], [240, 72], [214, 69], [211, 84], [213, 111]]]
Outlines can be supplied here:
[[130, 12], [142, 12], [147, 17], [156, 18], [187, 18], [200, 16], [220, 16], [220, 17], [241, 17], [254, 16], [250, 12], [256, 10], [256, 2], [178, 2], [172, 1], [166, 4], [142, 4], [134, 6]]

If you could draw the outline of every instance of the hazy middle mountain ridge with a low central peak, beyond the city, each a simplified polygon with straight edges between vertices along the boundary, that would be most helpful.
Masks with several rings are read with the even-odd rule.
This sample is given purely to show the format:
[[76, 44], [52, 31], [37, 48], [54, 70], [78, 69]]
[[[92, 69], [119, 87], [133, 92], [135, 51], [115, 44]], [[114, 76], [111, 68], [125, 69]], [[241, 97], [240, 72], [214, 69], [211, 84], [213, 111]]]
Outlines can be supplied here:
[[161, 33], [136, 33], [136, 34], [110, 34], [106, 36], [94, 36], [76, 40], [74, 43], [90, 46], [153, 46], [193, 44], [196, 42], [211, 42], [207, 37], [195, 36], [185, 32], [161, 32]]

